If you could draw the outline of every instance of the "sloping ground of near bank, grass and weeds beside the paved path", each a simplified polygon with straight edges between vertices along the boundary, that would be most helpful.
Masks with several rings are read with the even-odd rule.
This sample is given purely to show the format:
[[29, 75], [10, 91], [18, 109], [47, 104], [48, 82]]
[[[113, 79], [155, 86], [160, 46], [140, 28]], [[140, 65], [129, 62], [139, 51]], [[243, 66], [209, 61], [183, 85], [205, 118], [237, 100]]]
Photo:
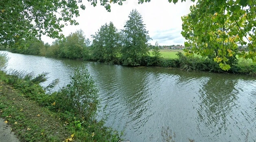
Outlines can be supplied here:
[[0, 71], [0, 117], [11, 125], [12, 131], [21, 142], [119, 140], [118, 133], [105, 127], [103, 121], [82, 121], [72, 112], [53, 112], [49, 107], [42, 107], [35, 97], [33, 99], [25, 97], [20, 93], [20, 88], [7, 84], [7, 77], [10, 76]]

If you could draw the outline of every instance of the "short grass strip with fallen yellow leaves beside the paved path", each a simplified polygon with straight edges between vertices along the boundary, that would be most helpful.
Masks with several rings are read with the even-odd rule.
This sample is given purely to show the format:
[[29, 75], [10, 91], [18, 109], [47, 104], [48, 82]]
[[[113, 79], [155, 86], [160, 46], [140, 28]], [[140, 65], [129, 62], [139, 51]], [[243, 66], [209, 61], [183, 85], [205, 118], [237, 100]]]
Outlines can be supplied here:
[[0, 84], [0, 116], [21, 141], [64, 141], [72, 134], [63, 127], [57, 113], [41, 108], [2, 80]]

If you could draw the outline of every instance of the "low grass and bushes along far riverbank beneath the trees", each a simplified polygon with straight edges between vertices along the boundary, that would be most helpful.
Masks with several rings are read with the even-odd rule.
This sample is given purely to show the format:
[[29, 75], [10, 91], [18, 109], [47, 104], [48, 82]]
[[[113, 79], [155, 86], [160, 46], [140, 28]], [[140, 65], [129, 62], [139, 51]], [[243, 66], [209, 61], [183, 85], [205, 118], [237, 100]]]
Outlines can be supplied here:
[[[49, 57], [61, 57], [68, 58], [66, 56], [62, 56], [60, 54], [61, 50], [54, 48], [50, 48], [47, 50], [50, 52], [49, 54], [40, 54], [43, 56]], [[11, 52], [22, 53], [22, 54], [32, 54], [32, 52], [28, 52], [27, 50], [17, 50], [13, 49]], [[150, 51], [152, 53], [152, 51]], [[184, 56], [183, 50], [173, 50], [173, 49], [162, 49], [160, 50], [162, 54], [160, 57], [154, 57], [152, 54], [143, 56], [140, 58], [136, 65], [129, 66], [155, 66], [155, 67], [167, 67], [167, 68], [180, 68], [182, 70], [190, 71], [190, 70], [199, 70], [199, 71], [212, 71], [212, 72], [223, 72], [223, 73], [239, 73], [239, 74], [247, 74], [247, 75], [256, 75], [256, 63], [252, 62], [251, 59], [243, 59], [243, 58], [230, 58], [228, 63], [231, 68], [228, 71], [223, 71], [217, 62], [214, 62], [212, 58], [203, 58], [201, 56], [195, 55], [194, 57]], [[72, 58], [72, 59], [81, 59], [81, 58]], [[101, 60], [93, 58], [93, 52], [88, 51], [86, 54], [83, 54], [84, 60], [94, 60], [98, 62], [105, 62], [108, 64], [118, 64], [118, 65], [126, 65], [124, 60], [118, 56], [116, 58], [112, 58], [112, 60]]]

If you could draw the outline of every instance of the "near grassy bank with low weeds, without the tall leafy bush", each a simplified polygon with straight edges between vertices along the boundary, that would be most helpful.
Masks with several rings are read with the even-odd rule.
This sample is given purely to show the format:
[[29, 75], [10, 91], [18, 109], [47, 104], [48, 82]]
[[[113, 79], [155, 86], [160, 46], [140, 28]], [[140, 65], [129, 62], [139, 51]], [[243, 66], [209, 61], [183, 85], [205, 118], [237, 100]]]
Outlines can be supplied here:
[[[104, 120], [86, 118], [76, 110], [61, 108], [65, 96], [46, 94], [38, 77], [27, 80], [0, 71], [0, 117], [11, 125], [21, 141], [116, 142], [120, 135], [104, 126]], [[66, 109], [66, 110], [65, 110]], [[89, 114], [88, 114], [89, 115]]]

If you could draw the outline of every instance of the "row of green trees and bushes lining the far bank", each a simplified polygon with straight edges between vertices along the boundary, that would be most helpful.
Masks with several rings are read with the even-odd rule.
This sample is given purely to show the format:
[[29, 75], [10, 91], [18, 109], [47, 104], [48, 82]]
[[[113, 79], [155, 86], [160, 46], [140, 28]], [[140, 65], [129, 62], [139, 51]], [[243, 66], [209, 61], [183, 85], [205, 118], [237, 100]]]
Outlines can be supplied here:
[[[131, 11], [129, 20], [126, 21], [124, 29], [118, 30], [112, 22], [102, 25], [94, 35], [93, 41], [85, 37], [82, 30], [77, 30], [63, 39], [57, 39], [52, 45], [44, 44], [37, 38], [26, 41], [26, 49], [11, 49], [11, 52], [22, 54], [35, 54], [49, 57], [95, 60], [109, 64], [127, 66], [158, 66], [174, 67], [185, 70], [223, 71], [212, 56], [187, 57], [182, 53], [178, 58], [166, 59], [160, 56], [159, 45], [153, 47], [147, 42], [151, 39], [143, 24], [142, 16], [137, 10]], [[150, 56], [149, 49], [153, 49]], [[231, 69], [225, 72], [256, 74], [256, 66], [238, 65], [233, 56], [229, 60]]]

